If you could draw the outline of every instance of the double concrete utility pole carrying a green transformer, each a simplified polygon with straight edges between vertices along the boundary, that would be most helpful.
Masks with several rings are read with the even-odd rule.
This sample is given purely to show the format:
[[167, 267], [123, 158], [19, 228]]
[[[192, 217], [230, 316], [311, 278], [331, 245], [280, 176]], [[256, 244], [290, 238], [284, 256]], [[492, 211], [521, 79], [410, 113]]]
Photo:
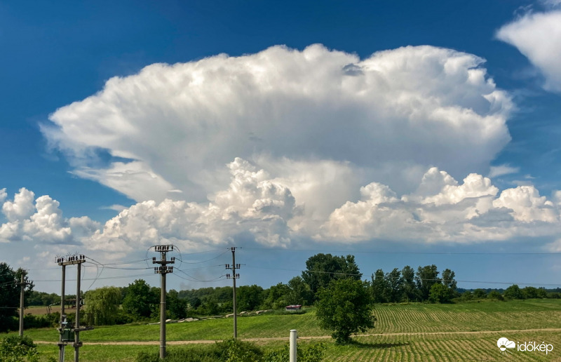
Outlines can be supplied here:
[[[83, 262], [86, 262], [85, 255], [69, 255], [67, 257], [56, 257], [56, 262], [62, 267], [62, 290], [60, 295], [60, 339], [58, 342], [59, 348], [59, 361], [65, 361], [65, 346], [68, 342], [74, 340], [74, 362], [79, 362], [80, 358], [80, 347], [82, 347], [82, 342], [80, 341], [80, 332], [84, 330], [92, 330], [92, 327], [80, 327], [80, 281], [81, 281], [81, 266]], [[77, 276], [76, 276], [76, 323], [74, 328], [67, 328], [67, 321], [65, 315], [65, 283], [66, 283], [66, 266], [67, 265], [77, 265]], [[74, 338], [72, 338], [72, 333], [74, 333]]]

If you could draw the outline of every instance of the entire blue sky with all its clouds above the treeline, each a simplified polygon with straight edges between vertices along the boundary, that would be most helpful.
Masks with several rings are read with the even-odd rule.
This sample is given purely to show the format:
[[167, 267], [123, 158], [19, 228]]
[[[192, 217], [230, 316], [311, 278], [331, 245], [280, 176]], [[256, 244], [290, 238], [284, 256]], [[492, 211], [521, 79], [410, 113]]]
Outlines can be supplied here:
[[229, 284], [234, 245], [264, 287], [318, 252], [561, 286], [560, 9], [1, 1], [1, 260], [46, 291], [55, 255], [157, 243], [203, 267], [171, 288]]

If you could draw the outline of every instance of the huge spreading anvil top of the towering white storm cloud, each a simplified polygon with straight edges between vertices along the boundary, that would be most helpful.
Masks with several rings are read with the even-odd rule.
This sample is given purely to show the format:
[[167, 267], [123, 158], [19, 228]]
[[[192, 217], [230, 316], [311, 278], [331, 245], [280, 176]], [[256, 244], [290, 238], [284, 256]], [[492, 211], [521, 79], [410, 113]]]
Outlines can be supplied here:
[[361, 60], [313, 45], [154, 64], [58, 109], [43, 133], [76, 175], [136, 201], [205, 201], [227, 185], [222, 166], [236, 156], [291, 185], [290, 170], [318, 163], [352, 168], [359, 185], [377, 175], [407, 189], [414, 184], [403, 173], [428, 166], [486, 170], [510, 140], [511, 101], [482, 63], [431, 46]]

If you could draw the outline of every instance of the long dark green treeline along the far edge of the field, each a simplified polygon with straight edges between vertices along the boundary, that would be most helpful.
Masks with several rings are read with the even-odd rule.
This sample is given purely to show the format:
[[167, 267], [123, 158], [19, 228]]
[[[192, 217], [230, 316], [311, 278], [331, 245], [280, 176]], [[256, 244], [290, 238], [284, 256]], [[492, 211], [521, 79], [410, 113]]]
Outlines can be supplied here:
[[[368, 285], [376, 303], [433, 302], [447, 303], [463, 300], [508, 300], [527, 298], [560, 298], [561, 288], [545, 289], [516, 285], [506, 289], [478, 288], [466, 290], [457, 288], [455, 273], [450, 269], [438, 271], [436, 265], [426, 265], [413, 269], [409, 265], [403, 269], [384, 272], [378, 269], [370, 276]], [[322, 288], [339, 279], [362, 280], [353, 255], [334, 256], [316, 254], [306, 261], [306, 269], [288, 283], [278, 283], [270, 288], [261, 286], [238, 286], [236, 300], [238, 311], [259, 309], [280, 309], [290, 304], [311, 306]], [[199, 288], [191, 290], [169, 290], [167, 293], [167, 314], [171, 319], [189, 316], [213, 316], [229, 314], [233, 311], [232, 288]], [[26, 293], [26, 305], [53, 305], [60, 303], [55, 293], [30, 290]], [[67, 295], [66, 300], [75, 300]], [[159, 316], [160, 288], [149, 286], [138, 279], [126, 287], [103, 287], [88, 290], [84, 296], [83, 318], [87, 324], [115, 324], [133, 321], [157, 320]], [[72, 319], [72, 315], [69, 315]]]

